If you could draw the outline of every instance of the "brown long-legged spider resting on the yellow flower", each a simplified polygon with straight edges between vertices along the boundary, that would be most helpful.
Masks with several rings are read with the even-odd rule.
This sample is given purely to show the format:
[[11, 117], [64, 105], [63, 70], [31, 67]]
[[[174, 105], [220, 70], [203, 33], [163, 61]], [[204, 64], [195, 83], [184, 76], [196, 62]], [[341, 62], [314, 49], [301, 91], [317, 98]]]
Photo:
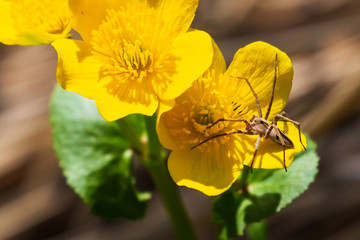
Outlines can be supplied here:
[[285, 164], [285, 149], [286, 148], [293, 148], [294, 144], [291, 141], [291, 139], [281, 130], [277, 127], [277, 122], [281, 119], [283, 121], [288, 121], [291, 122], [293, 124], [295, 124], [298, 127], [299, 130], [299, 139], [300, 139], [300, 143], [302, 144], [302, 146], [304, 147], [304, 150], [306, 150], [306, 147], [304, 146], [304, 144], [301, 141], [301, 131], [300, 131], [300, 124], [290, 118], [287, 117], [286, 113], [283, 111], [280, 114], [276, 114], [272, 123], [269, 122], [267, 119], [269, 117], [270, 114], [270, 110], [271, 110], [271, 106], [274, 100], [274, 92], [275, 92], [275, 85], [276, 85], [276, 80], [277, 80], [277, 54], [275, 55], [275, 74], [274, 74], [274, 82], [273, 82], [273, 86], [272, 86], [272, 93], [271, 93], [271, 98], [266, 110], [266, 114], [265, 117], [262, 117], [262, 111], [260, 108], [260, 102], [259, 102], [259, 98], [257, 96], [257, 94], [255, 93], [253, 87], [251, 86], [249, 80], [247, 78], [243, 78], [243, 77], [236, 77], [239, 79], [243, 79], [246, 81], [247, 85], [249, 86], [252, 94], [255, 97], [255, 101], [256, 101], [256, 106], [257, 106], [257, 110], [258, 110], [258, 115], [254, 114], [254, 116], [250, 119], [250, 121], [246, 120], [246, 119], [226, 119], [226, 118], [221, 118], [218, 119], [217, 121], [215, 121], [211, 126], [208, 126], [207, 128], [211, 128], [213, 126], [215, 126], [217, 123], [219, 122], [224, 122], [224, 121], [232, 121], [232, 122], [244, 122], [246, 124], [246, 130], [234, 130], [234, 131], [230, 131], [230, 132], [226, 132], [226, 133], [222, 133], [222, 134], [218, 134], [215, 136], [212, 136], [202, 142], [200, 142], [199, 144], [197, 144], [196, 146], [192, 147], [191, 149], [194, 149], [200, 145], [202, 145], [203, 143], [214, 139], [214, 138], [218, 138], [218, 137], [222, 137], [222, 136], [228, 136], [228, 135], [232, 135], [232, 134], [247, 134], [247, 135], [258, 135], [258, 138], [256, 140], [256, 145], [255, 145], [255, 151], [254, 151], [254, 156], [252, 158], [251, 164], [250, 164], [250, 171], [253, 171], [253, 164], [256, 158], [256, 154], [260, 148], [260, 140], [262, 137], [264, 137], [265, 139], [270, 138], [272, 141], [274, 141], [275, 143], [281, 145], [283, 147], [283, 159], [284, 159], [284, 168], [285, 171], [287, 171], [286, 168], [286, 164]]

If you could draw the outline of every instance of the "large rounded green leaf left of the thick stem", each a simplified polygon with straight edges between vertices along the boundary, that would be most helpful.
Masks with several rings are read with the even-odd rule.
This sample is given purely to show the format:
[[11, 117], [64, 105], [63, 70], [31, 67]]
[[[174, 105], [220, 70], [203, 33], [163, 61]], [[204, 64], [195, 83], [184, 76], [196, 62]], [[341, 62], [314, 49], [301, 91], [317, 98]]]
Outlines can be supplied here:
[[[105, 121], [95, 102], [57, 86], [51, 99], [53, 145], [68, 184], [106, 218], [135, 220], [144, 216], [147, 193], [136, 191], [130, 143], [115, 122]], [[126, 118], [138, 135], [142, 116]]]

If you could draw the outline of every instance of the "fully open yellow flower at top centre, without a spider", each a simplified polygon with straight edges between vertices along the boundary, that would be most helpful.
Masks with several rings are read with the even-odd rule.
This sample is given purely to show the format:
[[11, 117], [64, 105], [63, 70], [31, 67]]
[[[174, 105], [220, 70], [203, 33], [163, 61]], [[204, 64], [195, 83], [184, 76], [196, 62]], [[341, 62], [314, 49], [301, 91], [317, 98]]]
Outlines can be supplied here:
[[61, 39], [57, 79], [94, 99], [104, 119], [152, 115], [212, 61], [210, 36], [189, 30], [198, 0], [69, 1], [83, 40]]

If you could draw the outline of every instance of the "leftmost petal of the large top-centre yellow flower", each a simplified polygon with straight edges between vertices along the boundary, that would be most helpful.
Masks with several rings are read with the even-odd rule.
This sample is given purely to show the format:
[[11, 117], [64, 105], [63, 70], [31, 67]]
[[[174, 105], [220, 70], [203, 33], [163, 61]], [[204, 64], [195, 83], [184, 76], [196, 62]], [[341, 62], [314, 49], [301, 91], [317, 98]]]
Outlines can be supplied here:
[[52, 43], [58, 53], [57, 81], [68, 91], [93, 99], [101, 63], [80, 40], [59, 39]]

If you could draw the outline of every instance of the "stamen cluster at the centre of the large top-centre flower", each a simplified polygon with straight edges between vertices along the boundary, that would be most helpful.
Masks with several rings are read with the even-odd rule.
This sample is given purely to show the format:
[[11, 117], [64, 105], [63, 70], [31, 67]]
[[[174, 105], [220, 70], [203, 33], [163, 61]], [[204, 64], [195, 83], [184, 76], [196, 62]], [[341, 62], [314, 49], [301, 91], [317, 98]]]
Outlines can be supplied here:
[[[104, 63], [103, 74], [120, 83], [142, 83], [161, 72], [169, 57], [154, 42], [154, 9], [144, 3], [128, 4], [119, 11], [107, 10], [107, 17], [98, 30], [92, 32], [92, 52]], [[150, 28], [150, 29], [149, 29]]]

